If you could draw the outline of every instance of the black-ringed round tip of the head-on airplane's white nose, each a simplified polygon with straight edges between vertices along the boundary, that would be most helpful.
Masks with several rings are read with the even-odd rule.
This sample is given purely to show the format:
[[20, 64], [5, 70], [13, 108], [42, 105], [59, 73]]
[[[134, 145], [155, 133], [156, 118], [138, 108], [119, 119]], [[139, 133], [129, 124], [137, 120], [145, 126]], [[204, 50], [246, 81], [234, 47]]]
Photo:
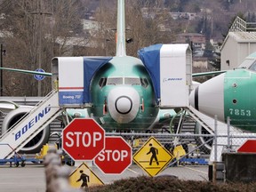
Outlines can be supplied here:
[[128, 114], [132, 110], [132, 100], [127, 96], [116, 99], [116, 111], [120, 114]]

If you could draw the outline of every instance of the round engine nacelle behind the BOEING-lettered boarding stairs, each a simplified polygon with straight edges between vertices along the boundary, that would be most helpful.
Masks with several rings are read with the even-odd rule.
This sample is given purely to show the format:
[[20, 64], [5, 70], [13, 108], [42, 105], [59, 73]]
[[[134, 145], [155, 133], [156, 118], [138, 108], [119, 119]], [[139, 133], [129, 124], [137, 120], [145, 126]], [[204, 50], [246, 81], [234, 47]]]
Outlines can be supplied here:
[[[21, 107], [13, 109], [4, 117], [2, 125], [2, 134], [6, 132], [13, 124], [20, 120], [22, 116], [27, 114], [33, 107]], [[32, 140], [30, 140], [24, 148], [21, 148], [21, 153], [37, 153], [43, 147], [43, 145], [49, 140], [50, 128], [47, 125], [42, 132], [39, 132]]]

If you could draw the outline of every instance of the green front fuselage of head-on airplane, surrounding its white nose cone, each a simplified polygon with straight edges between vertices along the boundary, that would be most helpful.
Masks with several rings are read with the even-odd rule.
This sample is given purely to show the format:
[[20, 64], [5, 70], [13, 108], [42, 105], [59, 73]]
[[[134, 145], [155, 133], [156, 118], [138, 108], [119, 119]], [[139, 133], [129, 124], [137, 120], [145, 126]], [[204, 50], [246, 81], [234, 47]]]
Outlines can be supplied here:
[[[101, 126], [106, 130], [147, 129], [155, 121], [159, 109], [150, 77], [141, 60], [130, 56], [114, 57], [93, 76], [90, 87], [93, 106], [89, 113], [100, 123], [103, 119]], [[109, 114], [108, 93], [116, 87], [120, 92], [125, 87], [132, 87], [140, 95], [140, 108], [129, 123], [118, 123]]]

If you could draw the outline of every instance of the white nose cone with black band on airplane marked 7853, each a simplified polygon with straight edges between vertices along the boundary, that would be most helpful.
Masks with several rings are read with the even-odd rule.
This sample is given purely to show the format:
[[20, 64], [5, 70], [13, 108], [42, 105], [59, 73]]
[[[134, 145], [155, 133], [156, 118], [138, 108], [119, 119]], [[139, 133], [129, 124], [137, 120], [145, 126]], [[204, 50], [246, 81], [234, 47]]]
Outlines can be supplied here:
[[193, 108], [206, 116], [217, 116], [224, 121], [224, 76], [220, 74], [200, 84], [189, 95], [189, 103]]

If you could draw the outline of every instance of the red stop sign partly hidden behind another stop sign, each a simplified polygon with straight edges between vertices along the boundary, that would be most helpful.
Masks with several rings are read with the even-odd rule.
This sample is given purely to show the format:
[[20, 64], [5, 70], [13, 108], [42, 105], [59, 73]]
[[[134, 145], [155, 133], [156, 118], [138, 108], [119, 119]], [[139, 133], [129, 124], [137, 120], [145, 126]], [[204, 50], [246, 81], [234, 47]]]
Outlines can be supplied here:
[[121, 174], [132, 164], [132, 148], [120, 136], [106, 137], [105, 149], [94, 163], [106, 174]]

